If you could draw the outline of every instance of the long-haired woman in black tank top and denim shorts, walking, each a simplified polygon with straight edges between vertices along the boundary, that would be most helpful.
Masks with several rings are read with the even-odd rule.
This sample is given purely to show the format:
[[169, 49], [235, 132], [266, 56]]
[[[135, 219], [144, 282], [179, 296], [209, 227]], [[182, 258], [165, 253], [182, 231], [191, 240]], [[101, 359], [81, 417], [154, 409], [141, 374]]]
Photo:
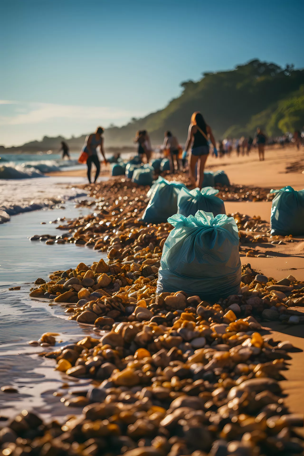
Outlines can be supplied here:
[[[210, 138], [214, 150], [216, 150], [216, 142], [210, 126], [206, 124], [205, 119], [200, 112], [193, 113], [188, 130], [188, 138], [185, 144], [185, 151], [192, 145], [189, 157], [189, 170], [193, 183], [195, 183], [196, 187], [199, 187], [199, 189], [201, 189], [203, 184], [205, 163], [209, 155], [208, 138]], [[196, 163], [197, 178], [195, 181]]]

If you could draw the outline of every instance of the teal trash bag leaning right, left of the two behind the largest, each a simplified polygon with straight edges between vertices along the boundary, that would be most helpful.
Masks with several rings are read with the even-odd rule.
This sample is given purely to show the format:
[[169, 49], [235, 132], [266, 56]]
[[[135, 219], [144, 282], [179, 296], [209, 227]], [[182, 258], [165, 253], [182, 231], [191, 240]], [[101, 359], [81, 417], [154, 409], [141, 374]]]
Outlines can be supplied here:
[[181, 188], [185, 188], [184, 184], [168, 182], [160, 176], [147, 193], [150, 201], [142, 220], [147, 223], [165, 223], [168, 217], [176, 214], [177, 197]]

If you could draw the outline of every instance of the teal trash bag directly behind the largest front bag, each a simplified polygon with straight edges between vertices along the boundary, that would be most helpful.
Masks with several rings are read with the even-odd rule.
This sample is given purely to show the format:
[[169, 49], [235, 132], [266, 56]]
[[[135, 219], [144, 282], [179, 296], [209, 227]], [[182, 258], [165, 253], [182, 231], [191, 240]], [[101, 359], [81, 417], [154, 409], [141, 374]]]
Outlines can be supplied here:
[[212, 212], [213, 217], [226, 214], [223, 200], [215, 195], [218, 190], [212, 187], [195, 188], [188, 190], [182, 188], [177, 199], [177, 213], [189, 217], [195, 216], [197, 211]]

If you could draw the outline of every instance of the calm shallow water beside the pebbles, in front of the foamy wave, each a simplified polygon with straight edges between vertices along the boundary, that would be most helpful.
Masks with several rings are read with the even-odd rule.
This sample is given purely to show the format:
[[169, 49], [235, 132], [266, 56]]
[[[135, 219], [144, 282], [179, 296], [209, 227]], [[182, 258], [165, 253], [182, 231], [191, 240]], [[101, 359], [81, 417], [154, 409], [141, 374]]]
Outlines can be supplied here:
[[[31, 409], [45, 418], [81, 413], [81, 409], [65, 407], [53, 392], [59, 389], [67, 394], [67, 389], [60, 389], [63, 382], [86, 388], [86, 381], [71, 380], [55, 371], [55, 361], [39, 357], [43, 348], [33, 347], [28, 341], [39, 339], [44, 332], [56, 332], [56, 348], [85, 335], [98, 334], [92, 332], [92, 326], [67, 320], [64, 306], [31, 299], [29, 290], [38, 277], [47, 280], [54, 270], [75, 267], [81, 261], [92, 264], [105, 254], [75, 244], [46, 245], [28, 237], [62, 234], [62, 230], [56, 229], [58, 225], [49, 221], [90, 212], [92, 209], [76, 209], [72, 202], [67, 202], [65, 209], [21, 213], [0, 225], [0, 386], [13, 385], [18, 390], [0, 391], [1, 420], [23, 409]], [[21, 290], [8, 290], [15, 285], [20, 285]]]

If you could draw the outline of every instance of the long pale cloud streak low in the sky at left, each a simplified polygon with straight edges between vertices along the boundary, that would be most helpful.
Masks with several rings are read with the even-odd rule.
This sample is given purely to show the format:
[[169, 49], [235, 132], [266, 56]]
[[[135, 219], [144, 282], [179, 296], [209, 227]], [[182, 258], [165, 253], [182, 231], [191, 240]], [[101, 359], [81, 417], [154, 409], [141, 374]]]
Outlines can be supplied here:
[[[2, 100], [0, 104], [19, 103]], [[0, 123], [2, 125], [41, 124], [53, 119], [98, 119], [100, 121], [112, 122], [134, 115], [134, 112], [129, 110], [109, 107], [74, 106], [52, 103], [29, 103], [26, 105], [28, 112], [25, 114], [14, 113], [9, 116], [1, 116]]]

